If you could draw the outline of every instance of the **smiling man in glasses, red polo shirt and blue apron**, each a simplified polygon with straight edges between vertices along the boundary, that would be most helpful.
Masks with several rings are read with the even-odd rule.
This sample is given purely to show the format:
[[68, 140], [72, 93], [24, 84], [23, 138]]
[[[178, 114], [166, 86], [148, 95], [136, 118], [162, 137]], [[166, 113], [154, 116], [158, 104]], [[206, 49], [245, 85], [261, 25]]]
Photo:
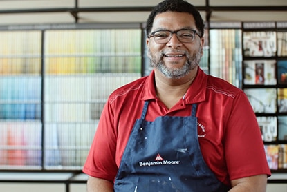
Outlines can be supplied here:
[[270, 170], [242, 90], [205, 75], [203, 20], [183, 0], [147, 19], [151, 66], [104, 106], [84, 165], [88, 191], [265, 191]]

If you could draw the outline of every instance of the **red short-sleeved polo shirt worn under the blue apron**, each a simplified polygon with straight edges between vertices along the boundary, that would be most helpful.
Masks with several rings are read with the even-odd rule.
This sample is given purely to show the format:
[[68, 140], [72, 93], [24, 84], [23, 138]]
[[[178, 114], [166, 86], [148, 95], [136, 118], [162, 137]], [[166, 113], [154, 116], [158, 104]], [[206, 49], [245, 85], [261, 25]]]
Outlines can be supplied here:
[[113, 181], [136, 119], [149, 100], [147, 121], [158, 116], [189, 116], [197, 103], [198, 141], [207, 166], [223, 183], [270, 175], [254, 111], [242, 90], [222, 79], [198, 74], [185, 97], [167, 109], [156, 97], [154, 72], [115, 90], [104, 106], [84, 164], [84, 173]]

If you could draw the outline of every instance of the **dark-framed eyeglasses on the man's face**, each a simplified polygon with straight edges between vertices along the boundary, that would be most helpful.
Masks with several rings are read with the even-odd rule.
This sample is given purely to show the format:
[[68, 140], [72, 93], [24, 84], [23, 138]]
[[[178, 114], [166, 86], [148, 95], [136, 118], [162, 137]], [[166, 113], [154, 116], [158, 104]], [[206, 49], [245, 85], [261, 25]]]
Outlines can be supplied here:
[[149, 38], [154, 37], [154, 41], [156, 41], [157, 44], [167, 44], [167, 42], [170, 41], [170, 39], [172, 39], [173, 34], [175, 34], [178, 40], [182, 43], [190, 43], [194, 41], [195, 35], [201, 37], [201, 35], [199, 35], [198, 32], [196, 32], [196, 30], [180, 29], [176, 31], [157, 30], [151, 32]]

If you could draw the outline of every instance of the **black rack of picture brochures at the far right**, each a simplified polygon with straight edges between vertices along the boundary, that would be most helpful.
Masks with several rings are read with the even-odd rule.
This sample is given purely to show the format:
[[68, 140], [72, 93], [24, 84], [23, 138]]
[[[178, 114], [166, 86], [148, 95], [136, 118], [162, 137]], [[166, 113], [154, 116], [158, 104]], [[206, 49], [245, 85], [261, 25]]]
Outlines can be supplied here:
[[243, 23], [243, 90], [272, 171], [287, 169], [287, 23]]

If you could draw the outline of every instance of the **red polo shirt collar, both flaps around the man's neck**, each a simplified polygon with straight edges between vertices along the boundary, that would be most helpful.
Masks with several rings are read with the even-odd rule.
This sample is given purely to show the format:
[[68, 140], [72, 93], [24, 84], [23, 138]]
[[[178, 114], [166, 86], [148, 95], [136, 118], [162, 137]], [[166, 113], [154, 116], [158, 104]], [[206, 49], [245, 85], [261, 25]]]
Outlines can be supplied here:
[[[207, 86], [207, 75], [199, 68], [194, 81], [189, 86], [185, 94], [185, 103], [194, 104], [205, 100], [205, 92]], [[149, 77], [145, 81], [142, 91], [142, 100], [156, 99], [156, 88], [154, 85], [154, 70], [151, 71]]]

